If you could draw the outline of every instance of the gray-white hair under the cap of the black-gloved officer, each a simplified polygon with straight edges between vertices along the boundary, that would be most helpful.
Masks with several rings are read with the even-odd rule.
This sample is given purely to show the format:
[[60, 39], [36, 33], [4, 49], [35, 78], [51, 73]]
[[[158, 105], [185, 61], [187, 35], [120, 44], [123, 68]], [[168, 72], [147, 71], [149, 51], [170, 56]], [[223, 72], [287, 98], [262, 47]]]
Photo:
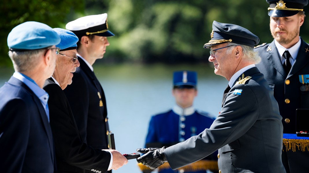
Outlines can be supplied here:
[[[240, 46], [243, 49], [243, 60], [246, 62], [252, 62], [258, 64], [261, 61], [261, 57], [258, 52], [255, 52], [252, 47], [243, 44], [227, 43], [228, 46]], [[231, 53], [233, 47], [229, 47], [226, 53]]]

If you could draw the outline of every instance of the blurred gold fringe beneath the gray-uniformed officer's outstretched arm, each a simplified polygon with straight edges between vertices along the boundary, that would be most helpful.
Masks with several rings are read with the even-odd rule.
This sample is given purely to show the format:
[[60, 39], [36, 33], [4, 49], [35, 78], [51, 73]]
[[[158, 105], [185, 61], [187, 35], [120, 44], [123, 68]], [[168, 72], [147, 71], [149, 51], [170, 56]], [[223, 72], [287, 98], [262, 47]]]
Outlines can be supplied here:
[[[142, 165], [142, 163], [138, 163], [138, 167], [141, 171], [151, 170], [149, 167]], [[168, 162], [163, 163], [157, 169], [160, 172], [163, 169], [170, 169], [170, 165]], [[212, 160], [199, 160], [197, 162], [191, 163], [190, 165], [178, 168], [177, 170], [183, 169], [184, 172], [194, 172], [194, 171], [204, 171], [204, 170], [213, 170], [218, 171], [218, 162]]]

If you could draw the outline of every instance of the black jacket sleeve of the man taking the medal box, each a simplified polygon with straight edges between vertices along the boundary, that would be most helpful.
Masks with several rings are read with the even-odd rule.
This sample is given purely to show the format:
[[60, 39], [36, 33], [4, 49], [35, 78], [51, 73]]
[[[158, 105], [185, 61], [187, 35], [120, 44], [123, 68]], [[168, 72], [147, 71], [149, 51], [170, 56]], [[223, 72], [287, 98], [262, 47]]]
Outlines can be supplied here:
[[111, 154], [87, 146], [81, 141], [70, 105], [61, 88], [55, 83], [49, 83], [43, 88], [49, 93], [50, 126], [56, 154], [62, 161], [75, 167], [107, 171]]

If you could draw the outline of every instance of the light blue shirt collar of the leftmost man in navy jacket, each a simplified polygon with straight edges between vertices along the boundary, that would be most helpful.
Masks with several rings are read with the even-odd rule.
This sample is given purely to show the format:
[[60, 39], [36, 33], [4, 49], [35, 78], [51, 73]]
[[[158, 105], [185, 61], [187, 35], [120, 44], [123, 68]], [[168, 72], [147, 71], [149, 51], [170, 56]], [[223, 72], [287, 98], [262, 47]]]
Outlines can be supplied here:
[[26, 76], [24, 74], [21, 74], [19, 72], [15, 72], [13, 74], [13, 77], [20, 80], [24, 84], [26, 84], [30, 88], [30, 90], [32, 90], [33, 93], [40, 99], [40, 101], [41, 101], [41, 103], [44, 107], [44, 110], [46, 112], [48, 122], [49, 122], [49, 109], [48, 109], [48, 104], [47, 104], [47, 101], [48, 101], [48, 98], [49, 98], [48, 93], [46, 91], [44, 91], [42, 88], [40, 88], [36, 84], [36, 82], [34, 82], [34, 80], [32, 80], [31, 78], [29, 78], [28, 76]]

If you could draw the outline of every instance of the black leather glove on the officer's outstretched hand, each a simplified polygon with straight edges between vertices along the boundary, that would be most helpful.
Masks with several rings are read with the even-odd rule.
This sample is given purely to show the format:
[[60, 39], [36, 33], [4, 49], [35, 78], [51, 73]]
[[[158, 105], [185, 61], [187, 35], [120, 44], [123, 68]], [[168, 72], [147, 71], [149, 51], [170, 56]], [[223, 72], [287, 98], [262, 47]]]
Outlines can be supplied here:
[[141, 157], [137, 158], [138, 163], [142, 163], [146, 167], [149, 167], [150, 169], [155, 169], [162, 165], [164, 162], [167, 162], [164, 150], [166, 146], [162, 148], [139, 148], [136, 151], [140, 153], [146, 153], [142, 155]]

